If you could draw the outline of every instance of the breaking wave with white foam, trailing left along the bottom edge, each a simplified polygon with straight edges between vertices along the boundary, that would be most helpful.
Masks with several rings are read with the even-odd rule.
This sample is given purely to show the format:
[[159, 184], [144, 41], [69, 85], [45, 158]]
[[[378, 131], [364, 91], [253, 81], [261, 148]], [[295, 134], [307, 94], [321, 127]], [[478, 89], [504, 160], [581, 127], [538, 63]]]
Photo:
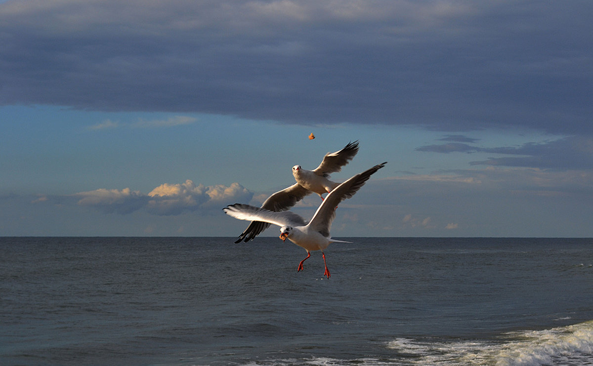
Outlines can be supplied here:
[[495, 339], [396, 338], [381, 357], [278, 358], [243, 366], [582, 366], [593, 365], [593, 320]]

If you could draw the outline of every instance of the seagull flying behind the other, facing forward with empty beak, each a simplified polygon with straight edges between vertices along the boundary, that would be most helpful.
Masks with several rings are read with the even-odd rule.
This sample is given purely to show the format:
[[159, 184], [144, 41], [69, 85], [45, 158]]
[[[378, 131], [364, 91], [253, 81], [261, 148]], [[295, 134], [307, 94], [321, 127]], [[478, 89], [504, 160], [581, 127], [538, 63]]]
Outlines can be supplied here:
[[[293, 166], [292, 175], [294, 175], [297, 183], [270, 195], [263, 202], [262, 208], [270, 211], [286, 211], [311, 192], [315, 192], [320, 196], [322, 193], [330, 192], [339, 185], [339, 183], [328, 179], [330, 173], [341, 171], [342, 166], [352, 160], [356, 153], [358, 153], [358, 140], [348, 143], [342, 150], [327, 153], [323, 157], [321, 164], [313, 171], [302, 169], [300, 165]], [[323, 197], [321, 198], [323, 199]], [[270, 227], [269, 223], [251, 221], [235, 243], [253, 240], [268, 227]]]

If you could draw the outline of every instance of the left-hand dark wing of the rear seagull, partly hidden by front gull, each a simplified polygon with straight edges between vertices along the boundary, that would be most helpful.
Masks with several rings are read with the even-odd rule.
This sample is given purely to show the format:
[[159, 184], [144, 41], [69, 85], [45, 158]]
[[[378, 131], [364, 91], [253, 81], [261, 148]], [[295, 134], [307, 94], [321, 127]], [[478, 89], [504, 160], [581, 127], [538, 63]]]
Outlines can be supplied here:
[[[307, 190], [307, 188], [302, 187], [302, 185], [295, 183], [290, 187], [283, 189], [282, 191], [278, 191], [275, 194], [270, 195], [270, 197], [268, 197], [267, 200], [263, 202], [262, 208], [270, 211], [286, 211], [292, 206], [295, 206], [298, 201], [302, 200], [302, 198], [308, 194], [311, 194], [310, 190]], [[251, 223], [249, 223], [247, 226], [247, 229], [245, 229], [245, 231], [239, 235], [239, 238], [235, 241], [235, 243], [253, 240], [268, 227], [270, 227], [270, 223], [263, 221], [251, 221]]]

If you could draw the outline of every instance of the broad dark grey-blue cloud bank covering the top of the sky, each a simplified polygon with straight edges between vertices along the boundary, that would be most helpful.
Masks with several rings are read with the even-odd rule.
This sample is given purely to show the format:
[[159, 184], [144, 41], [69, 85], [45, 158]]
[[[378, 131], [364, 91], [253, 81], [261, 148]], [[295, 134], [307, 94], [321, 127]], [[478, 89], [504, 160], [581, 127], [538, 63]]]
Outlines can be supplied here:
[[591, 14], [590, 1], [12, 0], [0, 105], [591, 134]]

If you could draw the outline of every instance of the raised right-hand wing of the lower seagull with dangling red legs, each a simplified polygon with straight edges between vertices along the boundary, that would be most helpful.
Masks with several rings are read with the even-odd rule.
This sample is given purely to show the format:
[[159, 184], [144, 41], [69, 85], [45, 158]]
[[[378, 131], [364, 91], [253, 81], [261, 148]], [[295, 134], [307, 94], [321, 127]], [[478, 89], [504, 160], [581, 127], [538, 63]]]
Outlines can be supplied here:
[[336, 217], [337, 205], [346, 198], [352, 197], [356, 191], [361, 189], [365, 182], [371, 178], [379, 169], [383, 168], [387, 162], [373, 166], [371, 169], [362, 173], [356, 174], [352, 178], [343, 182], [326, 196], [321, 203], [321, 206], [315, 211], [313, 219], [311, 219], [309, 226], [311, 229], [317, 230], [321, 235], [329, 237], [331, 221]]

